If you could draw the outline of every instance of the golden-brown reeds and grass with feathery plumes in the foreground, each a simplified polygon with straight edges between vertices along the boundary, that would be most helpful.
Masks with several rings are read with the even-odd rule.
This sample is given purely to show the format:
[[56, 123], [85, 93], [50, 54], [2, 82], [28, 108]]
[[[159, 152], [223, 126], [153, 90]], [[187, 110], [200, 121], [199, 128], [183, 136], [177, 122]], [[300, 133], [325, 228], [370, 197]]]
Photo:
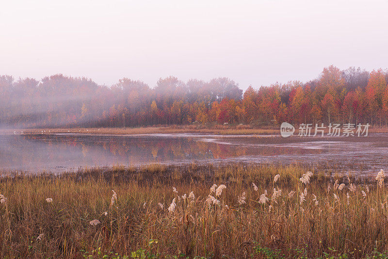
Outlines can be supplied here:
[[385, 173], [232, 163], [0, 178], [1, 258], [387, 258]]

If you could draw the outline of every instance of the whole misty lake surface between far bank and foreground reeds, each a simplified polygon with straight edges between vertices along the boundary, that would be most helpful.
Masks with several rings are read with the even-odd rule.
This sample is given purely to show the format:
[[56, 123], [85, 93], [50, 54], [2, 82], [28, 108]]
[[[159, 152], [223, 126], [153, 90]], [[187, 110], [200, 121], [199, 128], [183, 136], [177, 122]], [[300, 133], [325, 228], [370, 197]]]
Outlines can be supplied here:
[[388, 134], [289, 137], [203, 134], [0, 135], [0, 170], [63, 172], [80, 167], [264, 162], [312, 164], [358, 174], [388, 171]]

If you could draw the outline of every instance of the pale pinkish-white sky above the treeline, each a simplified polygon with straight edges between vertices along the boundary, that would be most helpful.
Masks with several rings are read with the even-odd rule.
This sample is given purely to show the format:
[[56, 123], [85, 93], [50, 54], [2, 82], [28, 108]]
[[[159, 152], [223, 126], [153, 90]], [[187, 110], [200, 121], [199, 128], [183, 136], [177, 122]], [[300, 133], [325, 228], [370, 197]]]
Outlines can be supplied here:
[[246, 89], [314, 79], [331, 64], [387, 68], [387, 12], [385, 0], [7, 0], [0, 75], [151, 87], [226, 76]]

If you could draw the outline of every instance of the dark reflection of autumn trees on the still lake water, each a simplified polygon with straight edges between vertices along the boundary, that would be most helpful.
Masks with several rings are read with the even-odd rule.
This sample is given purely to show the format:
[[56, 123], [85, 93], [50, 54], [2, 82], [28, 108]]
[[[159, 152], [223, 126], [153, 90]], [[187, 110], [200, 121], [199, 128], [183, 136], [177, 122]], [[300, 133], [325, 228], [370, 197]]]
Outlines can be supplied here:
[[[273, 156], [278, 154], [319, 153], [321, 150], [306, 150], [288, 146], [244, 146], [205, 142], [195, 138], [74, 136], [74, 135], [24, 135], [8, 136], [7, 154], [0, 154], [0, 162], [73, 162], [79, 166], [117, 163], [139, 164], [145, 162], [168, 162], [179, 160], [227, 159], [239, 156]], [[250, 143], [251, 140], [248, 141]], [[157, 160], [157, 161], [156, 161]]]

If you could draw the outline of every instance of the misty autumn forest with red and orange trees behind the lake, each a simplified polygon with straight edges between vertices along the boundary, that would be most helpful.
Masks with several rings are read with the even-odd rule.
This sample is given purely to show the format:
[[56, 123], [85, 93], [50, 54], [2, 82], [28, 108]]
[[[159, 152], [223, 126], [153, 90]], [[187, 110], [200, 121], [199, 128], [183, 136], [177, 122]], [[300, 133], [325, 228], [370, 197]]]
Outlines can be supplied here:
[[334, 65], [318, 78], [244, 92], [229, 78], [187, 82], [170, 76], [154, 87], [128, 78], [106, 86], [52, 75], [40, 81], [0, 76], [0, 128], [142, 127], [186, 124], [388, 123], [388, 71]]

